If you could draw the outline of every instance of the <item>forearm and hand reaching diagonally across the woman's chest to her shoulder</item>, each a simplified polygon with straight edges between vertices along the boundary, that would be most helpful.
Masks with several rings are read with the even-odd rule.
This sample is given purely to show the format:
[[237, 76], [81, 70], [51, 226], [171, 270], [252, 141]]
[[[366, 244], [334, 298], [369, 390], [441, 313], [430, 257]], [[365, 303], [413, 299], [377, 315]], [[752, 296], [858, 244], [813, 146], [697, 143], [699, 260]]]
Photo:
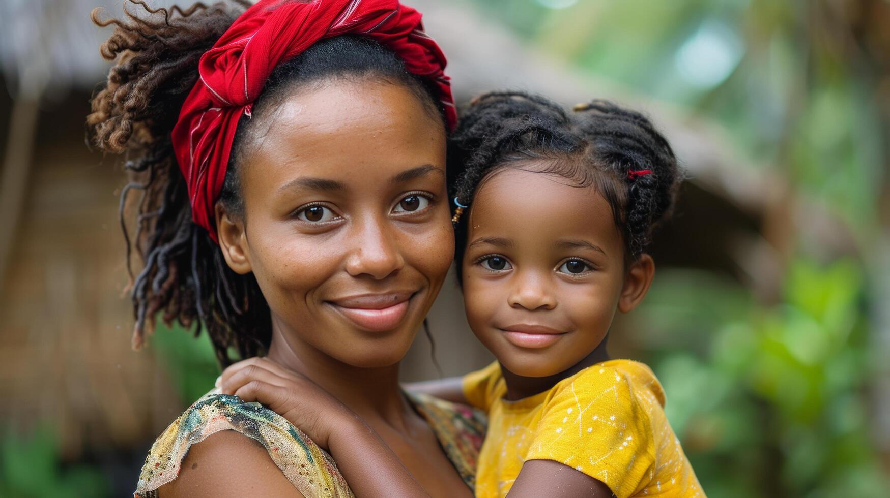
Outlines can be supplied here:
[[268, 406], [327, 449], [357, 497], [428, 496], [368, 424], [303, 375], [254, 357], [226, 368], [219, 387]]

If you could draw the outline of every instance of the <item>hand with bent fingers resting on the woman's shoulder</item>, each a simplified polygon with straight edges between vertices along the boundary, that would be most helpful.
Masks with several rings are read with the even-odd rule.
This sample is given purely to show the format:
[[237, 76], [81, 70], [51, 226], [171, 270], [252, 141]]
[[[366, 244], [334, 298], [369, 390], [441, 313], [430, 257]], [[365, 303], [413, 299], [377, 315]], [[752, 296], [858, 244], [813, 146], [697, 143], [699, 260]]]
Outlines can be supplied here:
[[352, 410], [318, 384], [265, 357], [252, 357], [229, 366], [218, 379], [217, 387], [223, 394], [268, 406], [325, 450], [329, 450], [331, 434], [365, 426]]

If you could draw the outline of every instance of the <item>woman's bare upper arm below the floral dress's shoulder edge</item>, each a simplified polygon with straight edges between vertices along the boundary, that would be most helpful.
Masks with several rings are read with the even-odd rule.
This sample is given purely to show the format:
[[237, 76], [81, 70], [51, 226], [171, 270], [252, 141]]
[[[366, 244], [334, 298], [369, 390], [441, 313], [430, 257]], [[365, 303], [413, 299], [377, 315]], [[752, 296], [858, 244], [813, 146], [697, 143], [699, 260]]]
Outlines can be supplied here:
[[289, 496], [301, 494], [266, 449], [234, 430], [221, 430], [190, 447], [179, 476], [158, 488], [160, 498]]

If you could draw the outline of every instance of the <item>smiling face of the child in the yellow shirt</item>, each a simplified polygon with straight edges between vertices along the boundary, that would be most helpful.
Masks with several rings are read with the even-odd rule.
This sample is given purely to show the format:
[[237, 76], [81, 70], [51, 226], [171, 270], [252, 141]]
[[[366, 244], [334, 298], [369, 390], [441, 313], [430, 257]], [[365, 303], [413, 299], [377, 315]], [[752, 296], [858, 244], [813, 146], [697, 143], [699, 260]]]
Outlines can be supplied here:
[[603, 341], [627, 290], [609, 203], [535, 169], [508, 166], [482, 184], [462, 271], [473, 333], [510, 372], [543, 377]]

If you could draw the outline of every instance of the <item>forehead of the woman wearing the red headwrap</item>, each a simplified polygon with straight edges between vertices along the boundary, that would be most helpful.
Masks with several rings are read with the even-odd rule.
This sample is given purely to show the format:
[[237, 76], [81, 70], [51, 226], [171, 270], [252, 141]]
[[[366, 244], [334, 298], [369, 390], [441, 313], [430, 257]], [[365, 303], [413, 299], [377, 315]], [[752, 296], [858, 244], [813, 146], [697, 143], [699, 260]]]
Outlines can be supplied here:
[[295, 92], [266, 119], [242, 156], [248, 176], [368, 179], [420, 165], [444, 170], [444, 128], [398, 84], [344, 81]]

